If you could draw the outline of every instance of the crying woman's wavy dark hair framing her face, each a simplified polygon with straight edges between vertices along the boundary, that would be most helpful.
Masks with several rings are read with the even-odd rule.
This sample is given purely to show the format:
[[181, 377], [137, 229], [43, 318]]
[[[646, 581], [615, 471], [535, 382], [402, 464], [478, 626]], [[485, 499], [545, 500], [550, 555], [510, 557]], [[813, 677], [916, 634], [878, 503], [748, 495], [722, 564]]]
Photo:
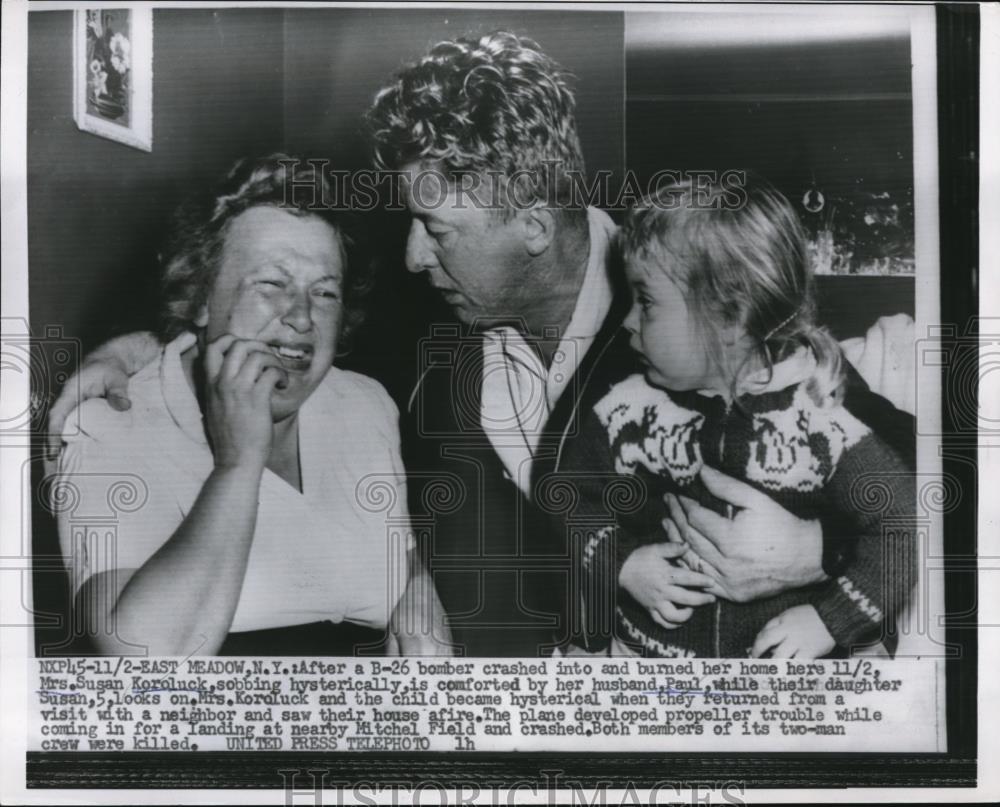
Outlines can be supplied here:
[[295, 216], [316, 216], [337, 231], [345, 273], [338, 346], [346, 344], [364, 318], [361, 303], [371, 288], [371, 273], [359, 254], [357, 228], [344, 214], [324, 206], [330, 192], [322, 164], [280, 153], [243, 159], [208, 193], [192, 197], [175, 211], [160, 253], [162, 340], [169, 341], [196, 327], [198, 312], [221, 265], [232, 221], [253, 207], [276, 207]]

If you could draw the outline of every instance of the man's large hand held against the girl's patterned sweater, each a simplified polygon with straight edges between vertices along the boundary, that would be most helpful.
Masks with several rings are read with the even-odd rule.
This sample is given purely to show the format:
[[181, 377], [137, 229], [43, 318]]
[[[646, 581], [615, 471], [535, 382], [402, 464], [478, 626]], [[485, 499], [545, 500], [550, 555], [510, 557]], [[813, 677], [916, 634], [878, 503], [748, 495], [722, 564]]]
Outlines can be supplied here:
[[826, 579], [818, 521], [796, 518], [759, 490], [713, 468], [703, 467], [701, 478], [711, 493], [742, 509], [727, 519], [668, 493], [670, 517], [663, 527], [671, 541], [690, 548], [684, 562], [714, 579], [708, 591], [749, 602]]

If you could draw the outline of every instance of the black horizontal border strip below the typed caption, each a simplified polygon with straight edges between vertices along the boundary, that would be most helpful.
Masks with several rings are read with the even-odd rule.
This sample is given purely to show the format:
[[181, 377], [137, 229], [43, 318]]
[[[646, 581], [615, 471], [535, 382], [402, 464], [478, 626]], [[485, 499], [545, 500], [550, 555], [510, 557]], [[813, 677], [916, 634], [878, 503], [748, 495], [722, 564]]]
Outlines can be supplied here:
[[[976, 761], [940, 754], [29, 754], [35, 788], [971, 787]], [[281, 771], [285, 771], [282, 775]], [[310, 774], [310, 771], [315, 771]], [[325, 774], [323, 773], [325, 772]]]

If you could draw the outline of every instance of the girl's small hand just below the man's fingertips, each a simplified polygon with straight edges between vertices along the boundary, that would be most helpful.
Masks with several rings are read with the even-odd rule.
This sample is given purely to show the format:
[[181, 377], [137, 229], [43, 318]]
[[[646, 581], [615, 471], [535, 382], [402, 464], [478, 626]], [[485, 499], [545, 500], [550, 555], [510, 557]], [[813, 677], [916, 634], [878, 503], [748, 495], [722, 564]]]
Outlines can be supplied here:
[[682, 544], [639, 547], [626, 558], [618, 575], [618, 584], [668, 630], [690, 619], [696, 606], [715, 602], [708, 592], [696, 590], [711, 586], [711, 577], [671, 563], [686, 549]]

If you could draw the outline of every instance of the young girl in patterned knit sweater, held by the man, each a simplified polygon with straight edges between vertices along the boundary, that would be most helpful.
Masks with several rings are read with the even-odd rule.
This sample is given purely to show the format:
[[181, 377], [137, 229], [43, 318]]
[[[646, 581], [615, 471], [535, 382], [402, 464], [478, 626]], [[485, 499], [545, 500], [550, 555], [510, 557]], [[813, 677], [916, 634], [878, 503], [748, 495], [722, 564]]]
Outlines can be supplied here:
[[[733, 209], [731, 188], [665, 188], [624, 225], [634, 296], [625, 328], [645, 377], [614, 385], [583, 425], [604, 462], [646, 486], [638, 512], [595, 530], [584, 548], [585, 588], [616, 597], [613, 652], [818, 658], [877, 640], [891, 646], [915, 580], [912, 473], [844, 405], [849, 368], [814, 323], [794, 211], [769, 187], [744, 191]], [[664, 493], [674, 494], [671, 507], [680, 495], [732, 517], [705, 485], [712, 469], [799, 518], [822, 519], [842, 568], [774, 597], [714, 599], [698, 559], [665, 547], [660, 526]]]

